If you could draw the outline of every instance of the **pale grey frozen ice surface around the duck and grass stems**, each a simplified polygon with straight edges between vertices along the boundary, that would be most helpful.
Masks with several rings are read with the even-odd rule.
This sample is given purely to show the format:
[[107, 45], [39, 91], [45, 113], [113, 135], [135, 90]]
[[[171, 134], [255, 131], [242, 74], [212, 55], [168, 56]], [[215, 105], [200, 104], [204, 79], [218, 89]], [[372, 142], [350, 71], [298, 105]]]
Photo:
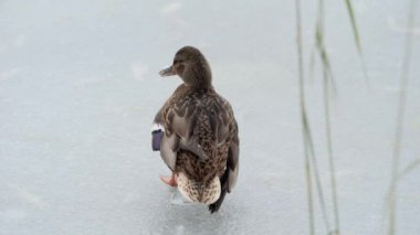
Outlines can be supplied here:
[[[0, 1], [0, 234], [308, 234], [294, 1], [207, 2]], [[315, 2], [303, 4], [308, 67]], [[370, 88], [344, 1], [326, 4], [342, 231], [385, 234], [406, 1], [354, 4]], [[401, 169], [420, 158], [416, 26]], [[171, 203], [150, 149], [151, 119], [180, 83], [157, 72], [186, 44], [207, 55], [240, 125], [240, 179], [218, 214]], [[306, 92], [332, 221], [318, 66]], [[419, 179], [398, 186], [399, 234], [419, 234]]]

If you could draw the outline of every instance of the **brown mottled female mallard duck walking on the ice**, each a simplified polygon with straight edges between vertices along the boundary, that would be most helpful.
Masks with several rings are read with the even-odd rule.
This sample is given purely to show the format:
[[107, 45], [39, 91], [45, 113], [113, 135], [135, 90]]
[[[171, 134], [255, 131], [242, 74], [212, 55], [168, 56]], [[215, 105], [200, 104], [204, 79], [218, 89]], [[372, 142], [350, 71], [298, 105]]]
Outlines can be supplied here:
[[172, 171], [160, 179], [178, 185], [188, 201], [217, 212], [238, 178], [239, 138], [232, 107], [214, 92], [210, 66], [192, 46], [180, 49], [172, 65], [159, 74], [183, 81], [155, 117], [153, 148], [160, 150]]

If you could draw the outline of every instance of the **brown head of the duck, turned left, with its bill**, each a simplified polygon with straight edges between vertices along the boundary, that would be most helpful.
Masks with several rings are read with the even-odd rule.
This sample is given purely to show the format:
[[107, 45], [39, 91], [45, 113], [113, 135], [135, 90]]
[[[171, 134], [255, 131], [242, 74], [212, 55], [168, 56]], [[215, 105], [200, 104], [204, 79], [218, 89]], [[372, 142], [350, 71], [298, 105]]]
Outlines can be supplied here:
[[192, 46], [183, 46], [175, 54], [171, 66], [159, 72], [160, 76], [178, 75], [188, 86], [211, 87], [211, 70], [204, 55]]

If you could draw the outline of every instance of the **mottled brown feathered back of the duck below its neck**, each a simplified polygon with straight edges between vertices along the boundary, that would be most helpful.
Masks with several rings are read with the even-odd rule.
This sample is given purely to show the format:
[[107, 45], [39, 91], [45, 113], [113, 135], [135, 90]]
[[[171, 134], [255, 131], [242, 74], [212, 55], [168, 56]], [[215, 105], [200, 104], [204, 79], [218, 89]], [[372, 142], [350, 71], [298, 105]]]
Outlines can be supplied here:
[[230, 104], [213, 89], [180, 87], [164, 116], [169, 132], [193, 141], [206, 153], [206, 158], [201, 158], [188, 149], [179, 149], [175, 170], [200, 182], [221, 177], [227, 167], [230, 142], [237, 132]]

